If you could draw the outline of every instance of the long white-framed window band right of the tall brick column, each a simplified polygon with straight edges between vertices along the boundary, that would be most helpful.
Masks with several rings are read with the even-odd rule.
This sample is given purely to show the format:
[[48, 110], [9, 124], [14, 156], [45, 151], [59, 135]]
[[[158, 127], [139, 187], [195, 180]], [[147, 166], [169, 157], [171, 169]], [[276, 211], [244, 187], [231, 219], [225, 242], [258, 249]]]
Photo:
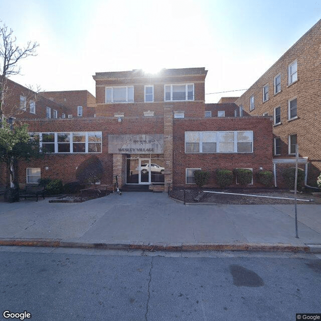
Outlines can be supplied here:
[[185, 152], [253, 152], [253, 131], [186, 131]]

